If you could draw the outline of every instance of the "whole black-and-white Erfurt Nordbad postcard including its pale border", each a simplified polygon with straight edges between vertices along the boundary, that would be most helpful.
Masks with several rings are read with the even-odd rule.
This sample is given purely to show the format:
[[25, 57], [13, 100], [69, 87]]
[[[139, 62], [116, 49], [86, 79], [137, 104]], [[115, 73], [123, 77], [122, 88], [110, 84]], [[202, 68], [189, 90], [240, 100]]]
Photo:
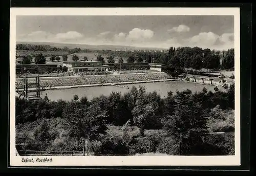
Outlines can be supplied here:
[[11, 165], [240, 164], [238, 8], [53, 9], [11, 9]]

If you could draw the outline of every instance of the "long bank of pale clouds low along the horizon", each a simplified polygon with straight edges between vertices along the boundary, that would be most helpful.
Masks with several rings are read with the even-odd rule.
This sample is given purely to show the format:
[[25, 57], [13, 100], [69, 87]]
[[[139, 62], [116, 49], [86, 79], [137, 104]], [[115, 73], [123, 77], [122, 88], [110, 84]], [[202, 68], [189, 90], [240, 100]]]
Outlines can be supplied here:
[[154, 37], [154, 32], [149, 29], [134, 28], [128, 33], [114, 34], [110, 31], [102, 32], [96, 36], [85, 37], [76, 31], [53, 34], [46, 31], [34, 31], [29, 34], [17, 35], [17, 41], [31, 42], [62, 42], [88, 45], [123, 45], [135, 47], [200, 47], [216, 50], [227, 50], [234, 47], [234, 34], [223, 33], [218, 35], [213, 32], [202, 32], [195, 36], [185, 37], [176, 35], [172, 38], [160, 39]]

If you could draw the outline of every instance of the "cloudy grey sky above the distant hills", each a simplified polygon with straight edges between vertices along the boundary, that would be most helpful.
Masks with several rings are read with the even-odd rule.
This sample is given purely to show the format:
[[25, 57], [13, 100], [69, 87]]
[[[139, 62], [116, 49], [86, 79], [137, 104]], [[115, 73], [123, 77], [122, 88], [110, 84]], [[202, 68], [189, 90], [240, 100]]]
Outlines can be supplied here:
[[233, 16], [16, 16], [16, 41], [234, 48]]

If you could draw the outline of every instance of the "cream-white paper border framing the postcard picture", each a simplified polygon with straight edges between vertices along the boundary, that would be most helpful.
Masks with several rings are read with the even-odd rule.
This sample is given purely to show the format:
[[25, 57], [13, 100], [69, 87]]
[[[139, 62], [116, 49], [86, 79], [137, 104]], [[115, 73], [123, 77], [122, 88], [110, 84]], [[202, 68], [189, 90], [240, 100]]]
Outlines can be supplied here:
[[[68, 13], [67, 13], [68, 12]], [[15, 43], [17, 15], [233, 15], [235, 55], [234, 156], [52, 157], [22, 162], [15, 156]], [[36, 157], [26, 157], [36, 158]], [[43, 158], [43, 157], [40, 157]], [[48, 157], [49, 158], [49, 157]], [[240, 9], [239, 8], [11, 8], [10, 9], [10, 165], [11, 166], [227, 166], [240, 165]]]

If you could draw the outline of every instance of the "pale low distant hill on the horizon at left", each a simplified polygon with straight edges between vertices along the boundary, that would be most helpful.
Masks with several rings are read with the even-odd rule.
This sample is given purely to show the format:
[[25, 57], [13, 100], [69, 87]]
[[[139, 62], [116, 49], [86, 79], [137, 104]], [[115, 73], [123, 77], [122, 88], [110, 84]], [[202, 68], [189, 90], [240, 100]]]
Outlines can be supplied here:
[[17, 41], [17, 44], [30, 44], [30, 45], [49, 45], [57, 48], [81, 48], [89, 50], [165, 50], [163, 48], [146, 48], [146, 47], [132, 47], [132, 46], [115, 46], [115, 45], [83, 45], [83, 44], [72, 44], [72, 43], [53, 43], [53, 42], [25, 42]]

